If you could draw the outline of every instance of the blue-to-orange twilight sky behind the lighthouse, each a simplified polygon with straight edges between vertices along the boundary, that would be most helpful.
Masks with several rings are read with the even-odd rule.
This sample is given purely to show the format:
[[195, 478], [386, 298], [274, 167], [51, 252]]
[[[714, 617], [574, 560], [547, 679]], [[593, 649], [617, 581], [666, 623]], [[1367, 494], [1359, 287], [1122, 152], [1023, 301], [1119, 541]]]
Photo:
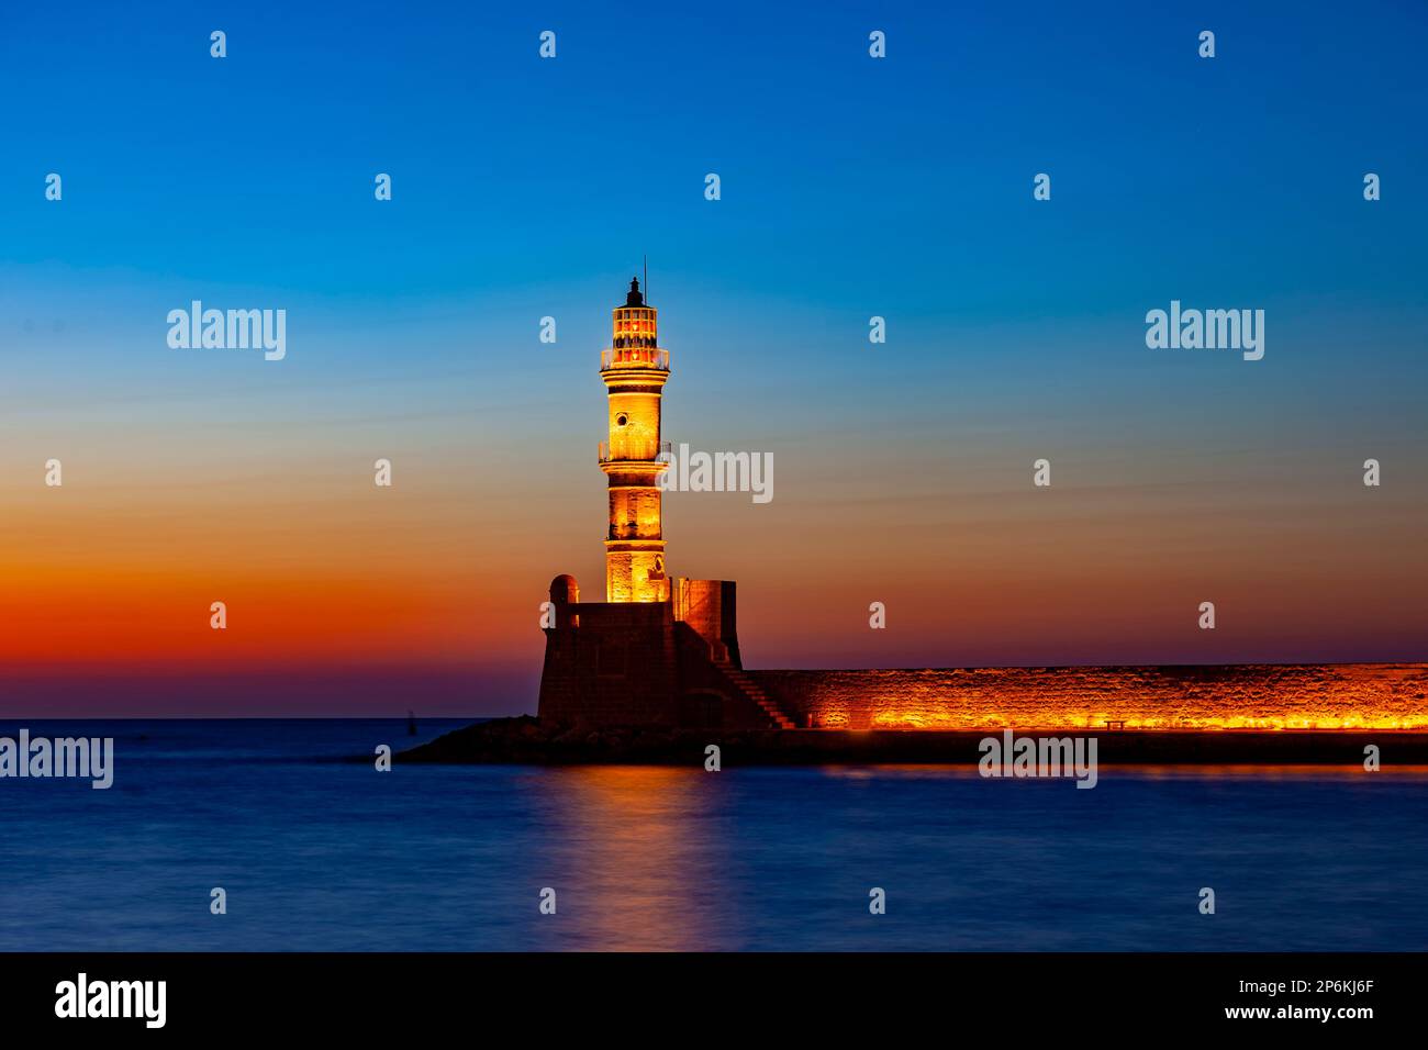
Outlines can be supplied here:
[[534, 710], [644, 257], [745, 666], [1428, 656], [1421, 4], [296, 7], [0, 16], [0, 714]]

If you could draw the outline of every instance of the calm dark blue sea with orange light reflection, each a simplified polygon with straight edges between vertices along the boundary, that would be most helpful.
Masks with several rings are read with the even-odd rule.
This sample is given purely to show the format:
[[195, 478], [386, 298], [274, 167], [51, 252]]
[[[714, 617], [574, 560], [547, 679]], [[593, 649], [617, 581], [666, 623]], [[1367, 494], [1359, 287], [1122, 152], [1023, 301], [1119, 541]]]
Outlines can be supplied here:
[[0, 721], [116, 747], [0, 779], [0, 950], [1428, 947], [1422, 770], [343, 761], [458, 724]]

